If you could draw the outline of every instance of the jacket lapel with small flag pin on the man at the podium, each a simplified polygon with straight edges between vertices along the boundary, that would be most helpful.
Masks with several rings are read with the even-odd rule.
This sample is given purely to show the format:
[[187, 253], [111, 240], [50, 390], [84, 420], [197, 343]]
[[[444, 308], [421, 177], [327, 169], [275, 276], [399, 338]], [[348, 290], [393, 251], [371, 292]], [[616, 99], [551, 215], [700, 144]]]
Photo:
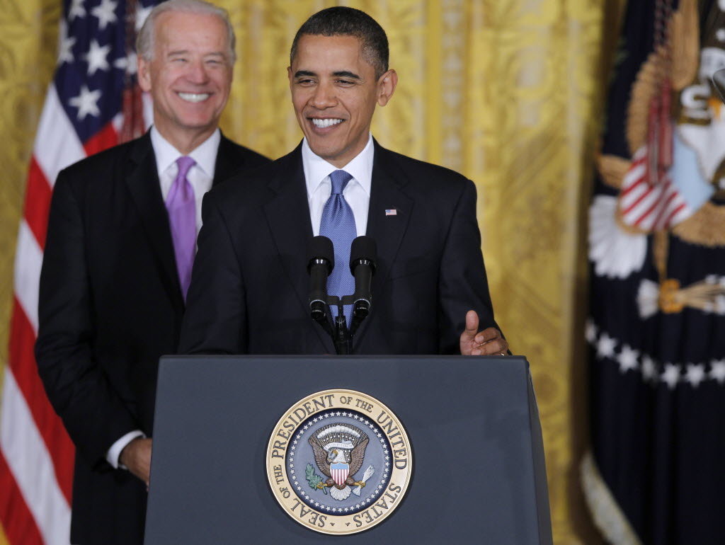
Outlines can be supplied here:
[[[390, 152], [375, 142], [366, 232], [376, 241], [378, 247], [377, 268], [371, 287], [373, 313], [376, 298], [381, 300], [384, 285], [389, 278], [413, 212], [414, 201], [405, 193], [407, 182], [407, 175], [392, 162]], [[369, 320], [365, 320], [357, 330], [355, 347], [360, 346], [360, 341], [368, 330], [368, 323]]]

